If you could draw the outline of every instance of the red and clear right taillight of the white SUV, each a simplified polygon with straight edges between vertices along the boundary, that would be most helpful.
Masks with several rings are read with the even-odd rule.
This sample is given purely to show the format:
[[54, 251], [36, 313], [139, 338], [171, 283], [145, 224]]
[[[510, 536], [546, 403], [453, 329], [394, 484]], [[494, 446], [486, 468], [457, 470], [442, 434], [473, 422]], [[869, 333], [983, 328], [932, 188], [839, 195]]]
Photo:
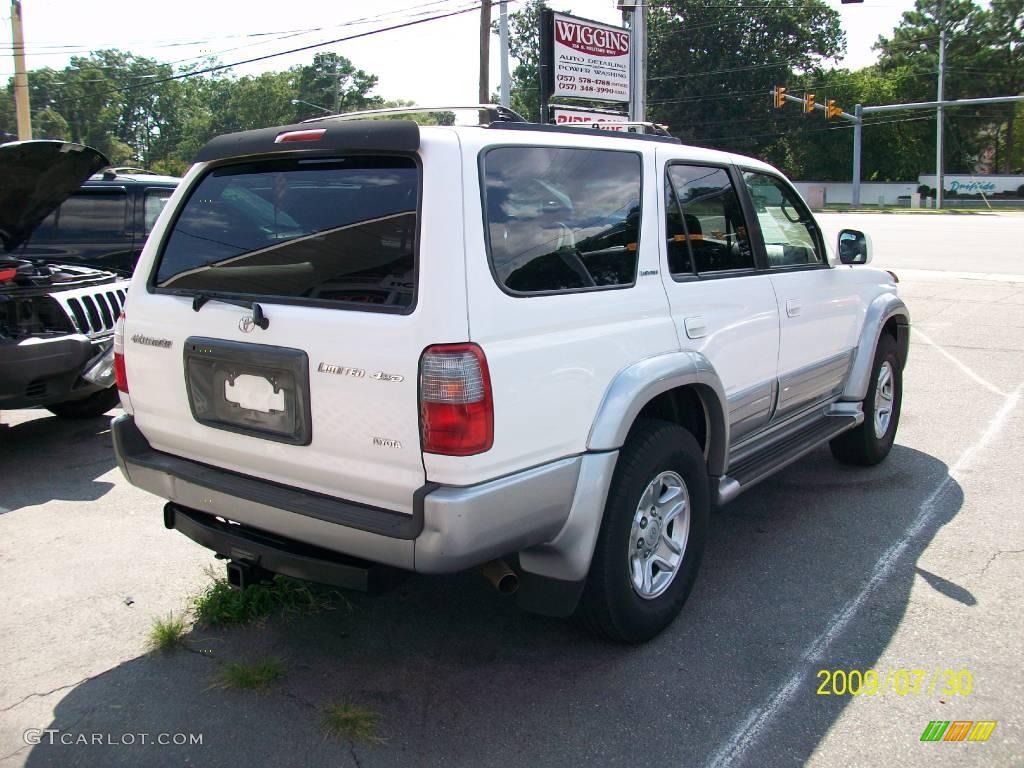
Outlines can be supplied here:
[[490, 374], [476, 344], [437, 344], [420, 359], [420, 433], [428, 454], [471, 456], [495, 441]]

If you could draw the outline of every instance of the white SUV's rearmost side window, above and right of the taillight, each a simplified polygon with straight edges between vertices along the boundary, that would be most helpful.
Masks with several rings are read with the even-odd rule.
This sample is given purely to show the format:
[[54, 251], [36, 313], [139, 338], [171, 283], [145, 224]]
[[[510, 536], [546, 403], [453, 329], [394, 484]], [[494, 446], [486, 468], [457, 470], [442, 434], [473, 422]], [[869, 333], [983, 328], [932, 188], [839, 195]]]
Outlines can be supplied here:
[[636, 282], [640, 156], [501, 146], [482, 164], [490, 266], [518, 295], [625, 288]]

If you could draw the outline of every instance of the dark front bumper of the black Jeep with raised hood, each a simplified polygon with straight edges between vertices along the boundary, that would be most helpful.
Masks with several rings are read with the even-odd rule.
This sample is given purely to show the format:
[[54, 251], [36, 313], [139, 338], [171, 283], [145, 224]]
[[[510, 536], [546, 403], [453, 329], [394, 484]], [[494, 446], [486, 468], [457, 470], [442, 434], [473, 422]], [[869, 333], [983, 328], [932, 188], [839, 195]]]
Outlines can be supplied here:
[[82, 334], [0, 342], [0, 410], [51, 406], [98, 391], [81, 376], [109, 344]]

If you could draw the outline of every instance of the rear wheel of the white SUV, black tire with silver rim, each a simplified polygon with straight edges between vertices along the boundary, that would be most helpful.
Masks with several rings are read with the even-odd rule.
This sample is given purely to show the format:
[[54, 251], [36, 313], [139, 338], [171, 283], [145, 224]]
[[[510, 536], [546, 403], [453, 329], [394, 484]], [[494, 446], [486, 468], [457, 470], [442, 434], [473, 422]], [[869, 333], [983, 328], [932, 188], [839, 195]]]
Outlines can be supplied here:
[[708, 468], [688, 431], [641, 420], [618, 457], [577, 618], [642, 643], [679, 614], [696, 579], [709, 514]]

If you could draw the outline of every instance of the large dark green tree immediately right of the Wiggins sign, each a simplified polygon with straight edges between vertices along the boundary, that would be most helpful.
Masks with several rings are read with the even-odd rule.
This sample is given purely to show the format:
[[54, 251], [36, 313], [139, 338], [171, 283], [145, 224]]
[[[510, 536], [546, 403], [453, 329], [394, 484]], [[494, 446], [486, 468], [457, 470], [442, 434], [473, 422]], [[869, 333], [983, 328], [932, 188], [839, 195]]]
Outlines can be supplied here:
[[648, 114], [684, 141], [784, 165], [811, 121], [775, 111], [772, 87], [793, 73], [820, 78], [845, 46], [822, 0], [670, 0], [648, 18]]

